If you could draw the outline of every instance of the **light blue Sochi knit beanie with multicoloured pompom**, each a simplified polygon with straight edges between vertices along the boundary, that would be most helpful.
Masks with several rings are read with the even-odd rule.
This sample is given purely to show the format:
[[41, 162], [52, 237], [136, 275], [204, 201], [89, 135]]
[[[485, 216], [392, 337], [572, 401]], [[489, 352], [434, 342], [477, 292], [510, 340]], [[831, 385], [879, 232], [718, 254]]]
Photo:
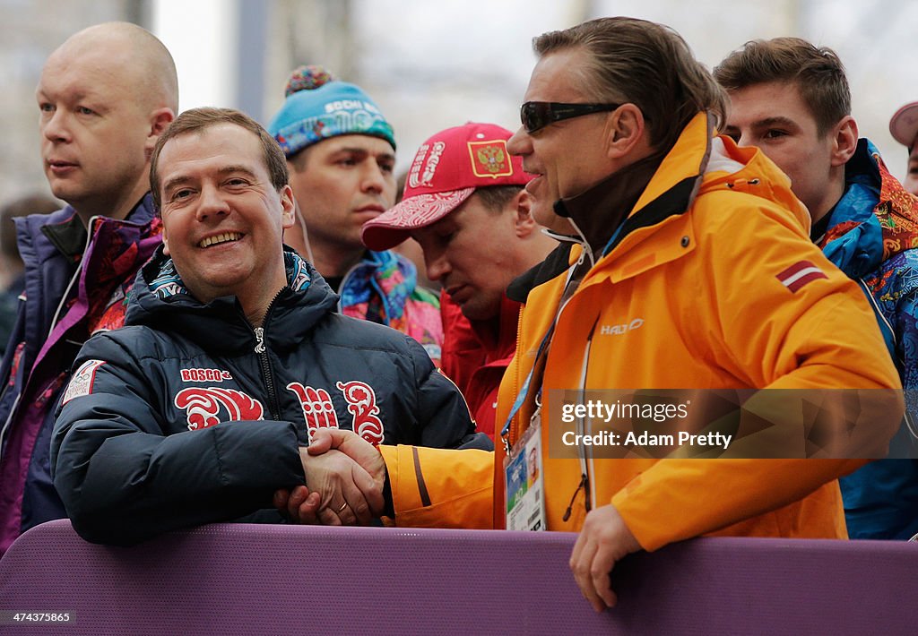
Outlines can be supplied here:
[[396, 139], [386, 117], [359, 86], [339, 82], [321, 66], [300, 66], [291, 73], [284, 106], [268, 124], [287, 157], [338, 135]]

